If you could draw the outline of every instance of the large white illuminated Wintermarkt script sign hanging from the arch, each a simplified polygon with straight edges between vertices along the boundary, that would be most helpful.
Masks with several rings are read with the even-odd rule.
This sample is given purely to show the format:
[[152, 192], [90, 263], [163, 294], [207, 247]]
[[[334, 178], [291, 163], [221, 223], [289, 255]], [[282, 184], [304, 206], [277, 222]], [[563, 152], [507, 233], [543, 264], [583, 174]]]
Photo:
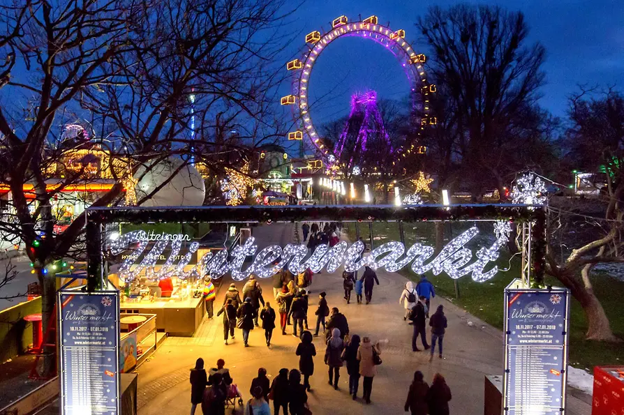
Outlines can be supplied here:
[[[344, 265], [348, 272], [357, 271], [364, 266], [372, 269], [380, 267], [386, 271], [396, 272], [411, 263], [411, 269], [415, 273], [426, 273], [432, 271], [434, 275], [442, 272], [447, 273], [451, 278], [460, 278], [471, 275], [473, 280], [482, 282], [489, 280], [498, 273], [498, 267], [492, 266], [485, 270], [489, 262], [496, 261], [500, 248], [509, 241], [511, 232], [510, 222], [494, 222], [494, 234], [496, 241], [487, 248], [479, 248], [476, 252], [476, 260], [473, 260], [473, 251], [466, 248], [466, 244], [479, 234], [476, 226], [470, 227], [462, 232], [440, 250], [438, 255], [433, 257], [435, 249], [432, 246], [415, 243], [407, 252], [401, 242], [387, 242], [375, 248], [370, 255], [362, 257], [364, 243], [357, 241], [351, 246], [345, 241], [341, 241], [333, 247], [328, 245], [317, 246], [312, 255], [308, 255], [308, 248], [305, 245], [289, 243], [281, 248], [277, 245], [267, 246], [258, 251], [258, 246], [254, 244], [253, 237], [248, 238], [242, 246], [237, 246], [228, 254], [226, 250], [221, 250], [216, 255], [208, 252], [198, 261], [198, 264], [188, 269], [191, 258], [199, 248], [199, 243], [193, 242], [185, 255], [180, 255], [180, 236], [163, 234], [163, 237], [154, 243], [151, 250], [140, 260], [143, 251], [148, 246], [147, 234], [144, 231], [133, 231], [124, 234], [119, 239], [112, 241], [110, 252], [112, 255], [119, 255], [121, 252], [130, 250], [129, 255], [124, 255], [125, 259], [119, 268], [121, 278], [133, 280], [142, 271], [145, 271], [148, 278], [167, 278], [177, 276], [178, 278], [189, 278], [191, 276], [211, 276], [220, 278], [225, 273], [230, 272], [234, 280], [240, 281], [248, 278], [252, 274], [259, 278], [269, 278], [281, 269], [288, 270], [295, 275], [311, 269], [318, 273], [322, 269], [333, 273], [340, 266]], [[161, 256], [165, 248], [171, 242], [170, 256], [156, 271], [156, 260]], [[228, 257], [232, 259], [228, 260]], [[242, 266], [246, 257], [254, 256], [251, 266], [243, 270]], [[179, 259], [181, 258], [181, 259]], [[179, 259], [177, 264], [174, 262]]]

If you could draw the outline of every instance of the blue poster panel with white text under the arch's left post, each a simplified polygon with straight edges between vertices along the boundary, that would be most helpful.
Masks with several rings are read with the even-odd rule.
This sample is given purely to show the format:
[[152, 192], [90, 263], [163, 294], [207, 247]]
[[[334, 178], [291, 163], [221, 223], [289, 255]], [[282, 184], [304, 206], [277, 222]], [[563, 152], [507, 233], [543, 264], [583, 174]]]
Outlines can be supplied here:
[[118, 415], [119, 294], [59, 292], [61, 413]]

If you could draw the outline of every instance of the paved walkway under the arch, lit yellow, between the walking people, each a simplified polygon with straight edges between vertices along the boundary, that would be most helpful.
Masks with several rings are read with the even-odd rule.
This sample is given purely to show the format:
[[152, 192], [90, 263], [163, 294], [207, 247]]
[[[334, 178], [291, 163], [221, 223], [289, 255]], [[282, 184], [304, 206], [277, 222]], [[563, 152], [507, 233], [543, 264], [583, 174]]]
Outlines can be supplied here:
[[[275, 224], [258, 228], [255, 235], [263, 241], [283, 244], [288, 242], [284, 241], [288, 239], [288, 235], [295, 237], [293, 230], [290, 225]], [[399, 296], [406, 279], [398, 273], [385, 271], [378, 271], [378, 277], [380, 285], [373, 291], [371, 304], [347, 305], [342, 298], [341, 272], [314, 276], [309, 309], [310, 328], [313, 329], [315, 323], [317, 295], [325, 291], [329, 307], [339, 307], [346, 315], [352, 334], [357, 333], [361, 337], [368, 335], [373, 342], [382, 342], [383, 364], [378, 367], [378, 375], [373, 382], [373, 403], [364, 405], [362, 400], [354, 402], [348, 396], [348, 375], [344, 368], [341, 370], [340, 391], [334, 391], [327, 384], [327, 366], [322, 357], [325, 347], [321, 338], [315, 338], [317, 357], [315, 374], [311, 377], [313, 391], [309, 393], [313, 413], [403, 414], [403, 403], [413, 373], [415, 370], [422, 370], [428, 382], [431, 382], [436, 372], [446, 377], [453, 395], [450, 402], [452, 414], [483, 414], [484, 376], [500, 374], [503, 368], [502, 333], [468, 315], [449, 301], [436, 297], [431, 307], [435, 309], [440, 303], [445, 305], [449, 328], [444, 339], [445, 359], [436, 357], [429, 363], [429, 354], [412, 352], [412, 327], [403, 322], [403, 307], [399, 305]], [[242, 283], [237, 285], [242, 287]], [[272, 289], [269, 280], [262, 282], [262, 285], [266, 296], [270, 297]], [[227, 286], [224, 282], [223, 287]], [[219, 293], [217, 304], [223, 301], [224, 292], [222, 290]], [[469, 321], [472, 322], [471, 325], [468, 325]], [[290, 326], [288, 330], [290, 333]], [[139, 368], [139, 414], [161, 415], [163, 408], [166, 408], [167, 414], [187, 414], [191, 393], [188, 370], [193, 367], [198, 357], [202, 357], [209, 367], [217, 359], [225, 359], [235, 383], [247, 399], [251, 379], [256, 376], [259, 367], [267, 368], [271, 378], [280, 368], [298, 368], [298, 358], [295, 356], [298, 342], [292, 335], [281, 335], [276, 329], [272, 348], [268, 349], [265, 346], [264, 331], [255, 329], [250, 335], [251, 347], [243, 347], [242, 333], [239, 330], [233, 344], [225, 346], [221, 318], [211, 321], [206, 319], [194, 338], [169, 338], [154, 357]], [[361, 391], [360, 384], [360, 395]], [[590, 413], [590, 405], [572, 397], [568, 402], [567, 413]]]

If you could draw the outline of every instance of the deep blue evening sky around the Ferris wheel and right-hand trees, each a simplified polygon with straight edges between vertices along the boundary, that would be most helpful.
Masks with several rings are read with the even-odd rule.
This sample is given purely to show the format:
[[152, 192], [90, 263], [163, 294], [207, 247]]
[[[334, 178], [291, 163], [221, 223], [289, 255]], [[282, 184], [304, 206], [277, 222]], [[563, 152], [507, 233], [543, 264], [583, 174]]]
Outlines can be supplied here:
[[[289, 45], [289, 56], [297, 57], [304, 36], [314, 30], [329, 30], [340, 15], [357, 20], [377, 15], [380, 24], [405, 29], [406, 40], [420, 53], [427, 53], [414, 23], [432, 5], [449, 6], [456, 1], [333, 0], [307, 1], [288, 20], [290, 35], [301, 33]], [[484, 1], [468, 1], [484, 3]], [[565, 116], [566, 98], [578, 84], [616, 85], [624, 91], [624, 1], [622, 0], [498, 0], [510, 10], [521, 10], [529, 25], [529, 40], [546, 47], [543, 70], [546, 85], [540, 104]], [[324, 30], [322, 30], [324, 29]], [[421, 52], [422, 51], [422, 52]], [[408, 92], [408, 82], [398, 61], [384, 47], [362, 38], [340, 38], [322, 52], [311, 74], [310, 103], [315, 126], [348, 114], [349, 97], [355, 91], [376, 89], [379, 98], [399, 100]], [[288, 86], [283, 86], [284, 95]]]

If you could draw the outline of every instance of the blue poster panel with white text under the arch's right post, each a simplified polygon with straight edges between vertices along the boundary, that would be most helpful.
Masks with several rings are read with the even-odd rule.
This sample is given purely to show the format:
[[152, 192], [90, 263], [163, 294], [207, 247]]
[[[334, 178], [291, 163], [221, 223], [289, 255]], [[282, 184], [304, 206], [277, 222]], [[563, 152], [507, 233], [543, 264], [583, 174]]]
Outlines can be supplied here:
[[565, 409], [569, 292], [505, 289], [505, 415]]

